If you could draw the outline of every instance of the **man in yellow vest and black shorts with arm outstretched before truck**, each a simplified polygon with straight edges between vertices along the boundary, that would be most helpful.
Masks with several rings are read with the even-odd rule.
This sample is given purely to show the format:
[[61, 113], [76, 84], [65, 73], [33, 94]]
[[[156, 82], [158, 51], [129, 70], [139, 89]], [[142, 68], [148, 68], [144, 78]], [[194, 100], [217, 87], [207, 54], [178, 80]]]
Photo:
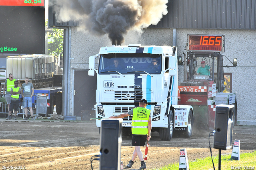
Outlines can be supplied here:
[[122, 113], [117, 116], [111, 116], [110, 118], [123, 118], [132, 116], [132, 146], [134, 146], [134, 152], [132, 154], [132, 160], [126, 165], [128, 168], [132, 168], [135, 158], [138, 156], [140, 159], [140, 169], [146, 169], [146, 162], [143, 160], [143, 154], [140, 150], [140, 146], [145, 146], [146, 140], [150, 140], [151, 136], [151, 115], [150, 110], [146, 109], [148, 101], [141, 99], [139, 107], [131, 109], [127, 113]]

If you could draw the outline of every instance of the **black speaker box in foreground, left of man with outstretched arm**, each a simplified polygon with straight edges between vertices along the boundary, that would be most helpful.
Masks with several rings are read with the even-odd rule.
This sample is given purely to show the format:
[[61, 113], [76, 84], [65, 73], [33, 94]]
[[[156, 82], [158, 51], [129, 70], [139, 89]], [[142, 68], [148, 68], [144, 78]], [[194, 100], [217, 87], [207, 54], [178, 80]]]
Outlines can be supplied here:
[[102, 119], [100, 127], [100, 170], [120, 170], [122, 119]]

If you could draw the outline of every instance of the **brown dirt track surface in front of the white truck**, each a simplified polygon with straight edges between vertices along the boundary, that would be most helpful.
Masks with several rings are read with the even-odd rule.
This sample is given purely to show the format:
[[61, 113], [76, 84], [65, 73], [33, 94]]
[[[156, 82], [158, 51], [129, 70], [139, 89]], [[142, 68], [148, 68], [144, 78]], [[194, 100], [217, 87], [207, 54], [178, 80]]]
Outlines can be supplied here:
[[[179, 162], [181, 148], [186, 148], [188, 160], [210, 156], [209, 132], [194, 132], [191, 138], [172, 138], [161, 141], [158, 132], [152, 133], [148, 150], [147, 169]], [[256, 149], [256, 127], [234, 126], [233, 144], [240, 139], [242, 152]], [[213, 147], [213, 137], [210, 138]], [[100, 135], [94, 121], [5, 121], [0, 119], [0, 168], [22, 166], [26, 170], [91, 170], [90, 159], [99, 154]], [[140, 167], [136, 158], [132, 168], [126, 168], [134, 147], [131, 137], [122, 138], [121, 160], [124, 169]], [[142, 147], [144, 153], [145, 147]], [[218, 156], [218, 150], [212, 149]], [[232, 149], [222, 150], [231, 154]], [[215, 163], [215, 162], [214, 162]], [[216, 162], [217, 164], [218, 162]], [[99, 161], [93, 161], [93, 169], [99, 168]]]

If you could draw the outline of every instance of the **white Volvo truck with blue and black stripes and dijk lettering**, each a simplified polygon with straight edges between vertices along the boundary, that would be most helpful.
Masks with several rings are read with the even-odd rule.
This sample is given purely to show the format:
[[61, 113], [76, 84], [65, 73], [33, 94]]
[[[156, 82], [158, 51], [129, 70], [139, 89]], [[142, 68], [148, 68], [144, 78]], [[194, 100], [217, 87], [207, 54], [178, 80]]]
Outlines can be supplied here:
[[[89, 69], [88, 75], [97, 73], [96, 118], [126, 113], [138, 107], [144, 98], [148, 101], [146, 108], [151, 110], [152, 131], [158, 131], [161, 140], [171, 140], [174, 130], [187, 137], [192, 135], [193, 108], [178, 105], [176, 47], [102, 47], [97, 55], [89, 57]], [[96, 125], [100, 128], [100, 120], [96, 120]], [[131, 125], [132, 117], [124, 117], [123, 134]]]

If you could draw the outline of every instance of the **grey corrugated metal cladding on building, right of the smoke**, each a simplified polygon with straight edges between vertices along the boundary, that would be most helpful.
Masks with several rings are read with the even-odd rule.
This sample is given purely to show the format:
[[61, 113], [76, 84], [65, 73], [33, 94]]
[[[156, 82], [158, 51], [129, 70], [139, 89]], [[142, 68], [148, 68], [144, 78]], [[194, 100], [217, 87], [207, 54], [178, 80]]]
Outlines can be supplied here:
[[256, 0], [169, 0], [151, 28], [256, 29]]

